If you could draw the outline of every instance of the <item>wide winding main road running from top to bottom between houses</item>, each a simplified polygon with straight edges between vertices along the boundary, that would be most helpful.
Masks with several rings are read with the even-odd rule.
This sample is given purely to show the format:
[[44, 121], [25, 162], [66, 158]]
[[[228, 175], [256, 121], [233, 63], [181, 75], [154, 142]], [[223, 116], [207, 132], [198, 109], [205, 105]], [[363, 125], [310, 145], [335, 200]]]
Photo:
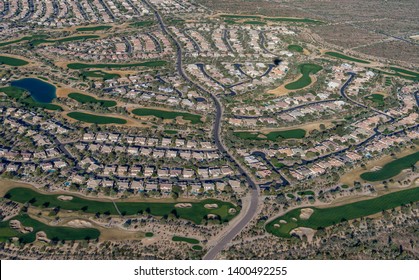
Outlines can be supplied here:
[[[211, 99], [213, 100], [214, 105], [215, 105], [215, 109], [216, 109], [214, 127], [213, 127], [213, 130], [212, 130], [215, 145], [230, 161], [232, 161], [236, 164], [237, 169], [246, 178], [246, 181], [247, 181], [248, 185], [250, 186], [250, 196], [251, 197], [250, 197], [250, 202], [249, 202], [250, 204], [246, 208], [247, 212], [244, 215], [242, 215], [242, 218], [241, 218], [240, 221], [236, 221], [236, 223], [231, 226], [228, 233], [226, 233], [223, 236], [218, 237], [218, 242], [216, 243], [216, 245], [214, 247], [210, 248], [208, 250], [208, 252], [206, 253], [206, 255], [203, 257], [203, 259], [205, 259], [205, 260], [215, 259], [217, 257], [217, 255], [224, 248], [226, 248], [226, 246], [234, 239], [234, 237], [236, 237], [236, 235], [238, 235], [243, 230], [243, 228], [255, 216], [255, 214], [257, 212], [257, 208], [258, 208], [258, 203], [259, 203], [259, 186], [253, 181], [253, 179], [247, 173], [247, 171], [241, 166], [241, 164], [228, 151], [228, 148], [226, 146], [224, 146], [224, 144], [221, 140], [220, 133], [221, 133], [221, 120], [222, 120], [222, 117], [223, 117], [223, 107], [221, 105], [220, 100], [217, 98], [217, 96], [214, 93], [205, 90], [203, 87], [201, 87], [200, 85], [193, 82], [186, 75], [186, 73], [184, 72], [184, 70], [182, 68], [182, 48], [181, 48], [181, 45], [176, 40], [175, 36], [173, 36], [170, 32], [168, 32], [168, 30], [166, 28], [166, 25], [164, 24], [164, 21], [163, 21], [161, 15], [160, 15], [159, 11], [153, 5], [151, 5], [147, 0], [143, 0], [143, 3], [146, 6], [148, 6], [152, 11], [154, 11], [154, 15], [156, 16], [157, 21], [158, 21], [163, 33], [166, 34], [170, 38], [170, 40], [173, 42], [173, 44], [175, 45], [176, 56], [177, 56], [176, 69], [177, 69], [179, 75], [181, 75], [182, 78], [185, 79], [186, 81], [188, 81], [191, 85], [195, 86], [196, 88], [198, 88], [202, 92], [205, 92], [205, 93], [207, 93], [208, 95], [211, 96]], [[244, 210], [242, 210], [242, 211], [244, 211]]]

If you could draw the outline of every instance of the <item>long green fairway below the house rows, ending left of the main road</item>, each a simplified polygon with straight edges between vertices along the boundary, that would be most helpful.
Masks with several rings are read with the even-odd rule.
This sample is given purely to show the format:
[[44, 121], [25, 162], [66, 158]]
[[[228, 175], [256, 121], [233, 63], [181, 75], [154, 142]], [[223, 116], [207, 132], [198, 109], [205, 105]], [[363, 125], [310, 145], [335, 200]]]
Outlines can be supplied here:
[[[72, 200], [62, 201], [58, 199], [58, 196], [41, 194], [28, 188], [13, 188], [5, 195], [5, 197], [19, 203], [30, 201], [31, 205], [35, 207], [60, 207], [62, 210], [84, 211], [93, 214], [108, 212], [110, 215], [118, 215], [112, 202], [90, 200], [74, 195], [72, 195]], [[217, 215], [222, 221], [229, 221], [239, 212], [229, 214], [229, 209], [236, 207], [232, 203], [215, 199], [190, 203], [192, 207], [189, 208], [176, 208], [177, 202], [116, 202], [116, 205], [122, 214], [128, 216], [137, 215], [139, 212], [147, 212], [153, 216], [166, 216], [172, 213], [179, 218], [190, 220], [196, 224], [200, 224], [208, 214]], [[218, 208], [207, 209], [204, 207], [205, 204], [218, 204]]]

